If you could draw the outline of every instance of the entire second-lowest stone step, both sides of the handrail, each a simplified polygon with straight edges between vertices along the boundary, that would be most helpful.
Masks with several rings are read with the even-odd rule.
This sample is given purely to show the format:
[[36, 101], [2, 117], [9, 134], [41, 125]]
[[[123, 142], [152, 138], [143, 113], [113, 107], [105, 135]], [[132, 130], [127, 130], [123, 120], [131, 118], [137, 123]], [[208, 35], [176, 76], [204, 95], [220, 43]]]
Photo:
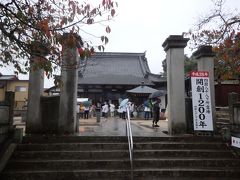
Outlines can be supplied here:
[[[240, 160], [210, 158], [134, 158], [134, 168], [225, 168], [239, 167]], [[129, 169], [129, 159], [104, 160], [10, 160], [6, 170], [77, 170], [77, 169]]]

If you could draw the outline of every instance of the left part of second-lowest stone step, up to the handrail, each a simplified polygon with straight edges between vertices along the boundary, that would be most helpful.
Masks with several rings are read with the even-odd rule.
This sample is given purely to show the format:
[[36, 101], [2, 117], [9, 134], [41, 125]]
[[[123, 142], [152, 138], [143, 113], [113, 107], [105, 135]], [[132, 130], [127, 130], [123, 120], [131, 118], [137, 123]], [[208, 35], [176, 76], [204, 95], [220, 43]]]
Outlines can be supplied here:
[[104, 159], [104, 160], [10, 160], [5, 168], [6, 171], [41, 171], [41, 170], [128, 170], [129, 159]]

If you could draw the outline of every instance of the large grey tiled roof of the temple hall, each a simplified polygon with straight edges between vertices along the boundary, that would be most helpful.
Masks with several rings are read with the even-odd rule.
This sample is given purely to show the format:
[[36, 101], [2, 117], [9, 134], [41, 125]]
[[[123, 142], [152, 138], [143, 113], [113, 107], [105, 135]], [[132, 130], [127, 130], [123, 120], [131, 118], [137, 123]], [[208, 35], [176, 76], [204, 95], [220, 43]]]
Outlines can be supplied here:
[[145, 53], [96, 53], [79, 77], [79, 84], [154, 85], [166, 81], [150, 72]]

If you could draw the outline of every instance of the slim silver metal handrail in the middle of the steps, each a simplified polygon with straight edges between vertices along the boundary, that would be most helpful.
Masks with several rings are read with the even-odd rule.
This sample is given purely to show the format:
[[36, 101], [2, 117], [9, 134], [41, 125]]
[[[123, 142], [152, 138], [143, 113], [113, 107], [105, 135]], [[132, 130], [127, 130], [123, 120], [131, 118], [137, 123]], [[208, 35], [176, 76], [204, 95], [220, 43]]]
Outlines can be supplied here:
[[127, 105], [126, 109], [127, 109], [126, 134], [128, 136], [129, 158], [130, 158], [130, 165], [131, 165], [131, 179], [133, 180], [133, 137], [132, 137], [132, 128], [130, 123], [129, 105]]

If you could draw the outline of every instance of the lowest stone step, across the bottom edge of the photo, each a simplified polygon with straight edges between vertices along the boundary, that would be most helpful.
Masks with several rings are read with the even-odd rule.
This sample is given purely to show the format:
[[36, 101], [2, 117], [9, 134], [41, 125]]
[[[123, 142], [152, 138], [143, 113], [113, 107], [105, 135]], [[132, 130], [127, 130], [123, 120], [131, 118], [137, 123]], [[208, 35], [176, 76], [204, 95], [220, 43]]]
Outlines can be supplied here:
[[[134, 180], [239, 180], [240, 172], [235, 169], [206, 168], [139, 168], [133, 171]], [[4, 180], [128, 180], [129, 170], [75, 170], [75, 171], [15, 171], [3, 172]]]

